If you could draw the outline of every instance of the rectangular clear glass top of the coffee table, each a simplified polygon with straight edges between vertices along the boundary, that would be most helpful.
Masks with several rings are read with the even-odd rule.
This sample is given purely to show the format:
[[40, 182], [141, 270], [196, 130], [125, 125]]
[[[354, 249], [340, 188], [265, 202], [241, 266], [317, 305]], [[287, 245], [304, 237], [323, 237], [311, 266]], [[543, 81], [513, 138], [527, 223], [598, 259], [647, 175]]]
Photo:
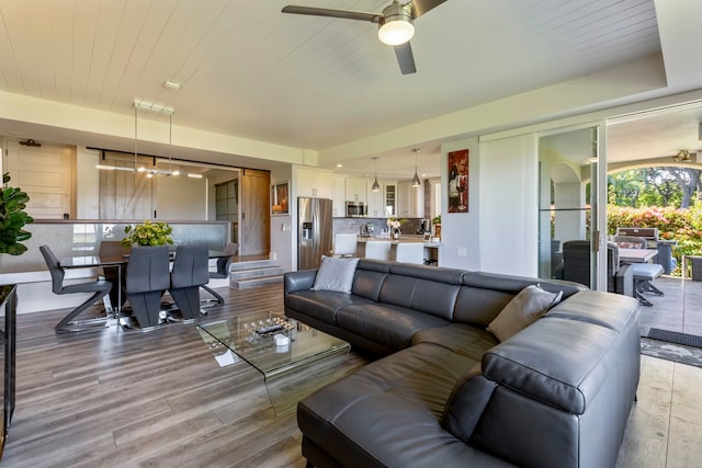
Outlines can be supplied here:
[[[279, 329], [281, 326], [283, 328]], [[199, 328], [267, 379], [327, 356], [348, 353], [350, 349], [346, 341], [271, 311], [201, 323]], [[267, 328], [271, 331], [264, 333]], [[276, 345], [274, 335], [278, 333], [288, 336], [290, 343]]]

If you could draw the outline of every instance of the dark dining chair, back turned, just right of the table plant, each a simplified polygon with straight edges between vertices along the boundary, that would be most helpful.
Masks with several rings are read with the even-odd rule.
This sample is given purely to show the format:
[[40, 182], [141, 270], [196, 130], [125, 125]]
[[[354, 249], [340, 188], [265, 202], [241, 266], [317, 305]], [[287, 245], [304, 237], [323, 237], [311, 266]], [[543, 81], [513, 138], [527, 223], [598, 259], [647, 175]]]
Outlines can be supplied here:
[[207, 246], [179, 246], [168, 292], [183, 320], [205, 315], [200, 307], [200, 287], [210, 281]]

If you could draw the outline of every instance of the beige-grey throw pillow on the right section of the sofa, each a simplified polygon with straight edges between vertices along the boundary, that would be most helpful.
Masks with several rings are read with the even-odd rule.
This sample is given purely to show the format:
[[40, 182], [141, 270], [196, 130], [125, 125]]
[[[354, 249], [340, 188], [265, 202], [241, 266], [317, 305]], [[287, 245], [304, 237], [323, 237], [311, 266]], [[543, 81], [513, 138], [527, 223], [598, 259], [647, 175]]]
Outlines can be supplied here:
[[509, 301], [487, 327], [499, 341], [505, 341], [529, 327], [558, 304], [563, 292], [550, 293], [539, 285], [526, 286]]

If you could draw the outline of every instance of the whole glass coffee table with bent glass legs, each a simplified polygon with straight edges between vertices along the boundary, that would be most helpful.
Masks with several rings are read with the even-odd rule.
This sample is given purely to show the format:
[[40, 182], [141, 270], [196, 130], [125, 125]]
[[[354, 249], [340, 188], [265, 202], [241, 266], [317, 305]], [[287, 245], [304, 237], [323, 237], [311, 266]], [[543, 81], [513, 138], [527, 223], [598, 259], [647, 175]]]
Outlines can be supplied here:
[[[263, 375], [276, 413], [340, 377], [339, 364], [351, 349], [343, 340], [272, 311], [201, 323], [197, 329], [220, 366], [245, 361]], [[276, 345], [276, 334], [290, 343]]]

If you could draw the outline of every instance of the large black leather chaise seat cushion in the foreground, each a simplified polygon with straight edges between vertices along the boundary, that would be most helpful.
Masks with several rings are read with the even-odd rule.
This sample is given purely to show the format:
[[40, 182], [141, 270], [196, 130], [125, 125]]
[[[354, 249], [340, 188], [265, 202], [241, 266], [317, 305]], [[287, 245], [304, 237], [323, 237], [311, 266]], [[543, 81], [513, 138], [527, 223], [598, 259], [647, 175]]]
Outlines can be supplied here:
[[455, 381], [475, 364], [433, 344], [400, 351], [303, 399], [299, 429], [344, 466], [509, 466], [440, 424]]

